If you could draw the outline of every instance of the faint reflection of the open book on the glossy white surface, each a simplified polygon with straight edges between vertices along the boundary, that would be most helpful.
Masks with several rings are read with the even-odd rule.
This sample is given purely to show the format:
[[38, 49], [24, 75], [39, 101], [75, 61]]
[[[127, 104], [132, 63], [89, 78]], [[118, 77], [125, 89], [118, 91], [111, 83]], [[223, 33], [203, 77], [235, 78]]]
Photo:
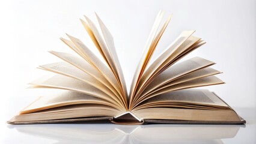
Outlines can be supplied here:
[[20, 133], [56, 143], [223, 143], [245, 125], [115, 125], [106, 122], [13, 125]]

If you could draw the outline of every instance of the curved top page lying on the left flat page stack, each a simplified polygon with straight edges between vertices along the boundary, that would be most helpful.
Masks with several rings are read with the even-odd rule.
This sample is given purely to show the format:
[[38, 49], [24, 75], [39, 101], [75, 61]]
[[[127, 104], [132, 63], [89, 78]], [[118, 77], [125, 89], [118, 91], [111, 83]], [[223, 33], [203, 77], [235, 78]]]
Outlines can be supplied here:
[[34, 101], [34, 103], [31, 103], [28, 107], [25, 107], [20, 114], [37, 112], [39, 110], [50, 109], [53, 107], [69, 106], [73, 104], [103, 104], [118, 109], [118, 107], [114, 104], [101, 98], [93, 97], [80, 92], [62, 90], [62, 92], [59, 92], [58, 94], [39, 97], [36, 101]]

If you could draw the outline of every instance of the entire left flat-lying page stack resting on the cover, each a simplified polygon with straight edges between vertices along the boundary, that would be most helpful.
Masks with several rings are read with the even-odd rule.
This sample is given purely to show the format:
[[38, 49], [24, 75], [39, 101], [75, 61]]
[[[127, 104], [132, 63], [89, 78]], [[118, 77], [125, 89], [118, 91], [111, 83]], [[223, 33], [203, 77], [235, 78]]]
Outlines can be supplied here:
[[92, 95], [74, 91], [41, 96], [15, 116], [16, 121], [45, 121], [84, 117], [120, 115], [116, 104]]

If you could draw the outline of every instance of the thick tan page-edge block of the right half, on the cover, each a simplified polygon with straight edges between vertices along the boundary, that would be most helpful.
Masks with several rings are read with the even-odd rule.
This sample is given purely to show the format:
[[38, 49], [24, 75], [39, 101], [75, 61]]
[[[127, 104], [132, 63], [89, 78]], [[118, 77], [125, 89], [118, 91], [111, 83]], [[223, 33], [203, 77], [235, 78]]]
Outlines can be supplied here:
[[132, 113], [141, 119], [172, 119], [187, 121], [240, 121], [234, 110], [200, 110], [176, 108], [148, 108]]

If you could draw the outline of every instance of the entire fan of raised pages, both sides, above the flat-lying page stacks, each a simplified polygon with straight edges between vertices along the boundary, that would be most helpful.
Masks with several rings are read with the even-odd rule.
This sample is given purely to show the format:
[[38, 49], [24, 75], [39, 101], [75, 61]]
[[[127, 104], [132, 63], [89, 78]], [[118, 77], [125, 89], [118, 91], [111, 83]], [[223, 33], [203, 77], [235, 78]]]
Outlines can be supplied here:
[[[65, 62], [41, 65], [39, 68], [57, 75], [48, 76], [47, 79], [44, 77], [35, 80], [31, 83], [34, 86], [31, 87], [79, 91], [107, 100], [116, 104], [120, 109], [132, 110], [148, 98], [157, 97], [157, 95], [166, 92], [224, 83], [213, 76], [221, 72], [209, 68], [215, 63], [207, 59], [196, 57], [175, 64], [205, 43], [201, 38], [192, 36], [195, 31], [182, 32], [151, 65], [148, 65], [171, 19], [170, 15], [163, 26], [160, 27], [163, 14], [163, 11], [159, 11], [151, 29], [133, 77], [130, 97], [127, 96], [126, 84], [115, 51], [114, 39], [97, 14], [96, 17], [101, 31], [87, 16], [85, 16], [86, 21], [81, 19], [81, 22], [105, 60], [106, 65], [81, 40], [67, 35], [70, 40], [66, 38], [61, 38], [61, 40], [74, 50], [80, 58], [69, 53], [51, 51], [50, 53]], [[57, 79], [66, 80], [66, 83], [61, 83]], [[85, 85], [85, 87], [81, 87], [81, 85]], [[91, 91], [92, 89], [94, 92]]]

